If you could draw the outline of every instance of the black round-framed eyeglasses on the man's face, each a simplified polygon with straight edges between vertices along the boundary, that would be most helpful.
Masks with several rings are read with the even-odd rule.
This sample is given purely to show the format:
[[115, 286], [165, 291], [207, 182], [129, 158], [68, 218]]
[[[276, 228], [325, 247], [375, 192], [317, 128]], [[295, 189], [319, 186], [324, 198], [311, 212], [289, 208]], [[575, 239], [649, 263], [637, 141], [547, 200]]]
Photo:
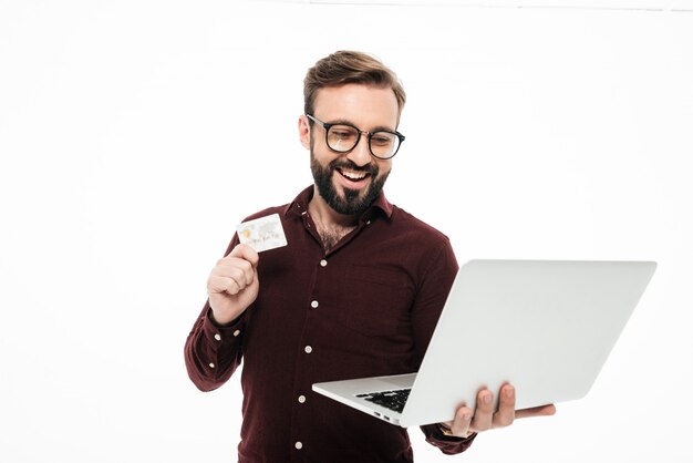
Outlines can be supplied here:
[[337, 153], [349, 153], [356, 147], [361, 135], [368, 135], [369, 151], [379, 160], [390, 160], [400, 150], [404, 135], [400, 132], [375, 131], [368, 132], [350, 124], [328, 124], [318, 117], [306, 114], [311, 121], [324, 127], [324, 140], [328, 147]]

